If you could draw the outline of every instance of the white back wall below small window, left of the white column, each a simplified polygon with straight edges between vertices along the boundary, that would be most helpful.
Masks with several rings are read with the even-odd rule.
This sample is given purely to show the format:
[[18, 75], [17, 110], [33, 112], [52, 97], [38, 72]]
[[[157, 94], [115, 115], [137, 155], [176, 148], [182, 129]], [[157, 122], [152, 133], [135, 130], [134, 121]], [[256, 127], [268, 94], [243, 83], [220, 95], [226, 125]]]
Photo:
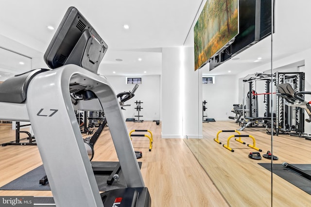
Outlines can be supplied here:
[[[112, 85], [116, 94], [121, 92], [132, 91], [134, 84], [126, 84], [125, 76], [105, 76], [107, 80]], [[126, 101], [125, 104], [130, 104], [131, 106], [124, 107], [122, 110], [124, 119], [135, 118], [138, 115], [136, 108], [136, 101], [141, 101], [141, 111], [139, 115], [140, 120], [153, 121], [160, 120], [160, 75], [152, 76], [141, 76], [141, 84], [139, 84], [138, 89], [135, 92], [135, 96], [130, 100]]]

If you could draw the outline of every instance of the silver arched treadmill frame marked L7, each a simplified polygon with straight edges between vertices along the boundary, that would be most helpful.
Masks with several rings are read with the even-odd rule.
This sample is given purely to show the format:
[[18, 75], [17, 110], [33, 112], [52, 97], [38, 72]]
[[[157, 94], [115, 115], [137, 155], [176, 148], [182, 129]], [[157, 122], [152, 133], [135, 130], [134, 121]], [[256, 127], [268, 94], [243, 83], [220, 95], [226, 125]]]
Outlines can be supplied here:
[[[144, 187], [118, 99], [104, 78], [72, 64], [38, 74], [28, 87], [28, 115], [56, 206], [103, 207], [71, 104], [69, 84], [74, 82], [98, 97], [127, 187]], [[75, 182], [67, 184], [69, 180]]]

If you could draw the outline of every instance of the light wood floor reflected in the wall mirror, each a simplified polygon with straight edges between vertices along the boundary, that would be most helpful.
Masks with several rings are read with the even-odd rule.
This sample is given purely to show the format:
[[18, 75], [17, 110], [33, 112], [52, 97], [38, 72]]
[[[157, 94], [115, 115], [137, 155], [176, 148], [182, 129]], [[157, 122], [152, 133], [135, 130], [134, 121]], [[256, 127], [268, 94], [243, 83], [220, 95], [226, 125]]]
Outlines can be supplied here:
[[[311, 207], [311, 195], [291, 183], [261, 167], [258, 163], [271, 163], [271, 160], [249, 159], [248, 154], [256, 150], [230, 140], [230, 147], [225, 149], [213, 139], [219, 130], [236, 130], [233, 122], [203, 123], [203, 139], [186, 140], [193, 154], [199, 159], [207, 174], [215, 183], [232, 207], [271, 207], [271, 179], [273, 178], [273, 207]], [[226, 144], [230, 135], [236, 132], [222, 132], [219, 140]], [[271, 151], [271, 135], [265, 128], [245, 128], [241, 134], [252, 135], [256, 146], [262, 149], [261, 156]], [[251, 138], [243, 138], [252, 144]], [[279, 159], [273, 163], [311, 163], [311, 141], [304, 138], [279, 135], [273, 136], [273, 152]], [[272, 178], [271, 178], [272, 177]], [[311, 187], [311, 186], [310, 186]]]

